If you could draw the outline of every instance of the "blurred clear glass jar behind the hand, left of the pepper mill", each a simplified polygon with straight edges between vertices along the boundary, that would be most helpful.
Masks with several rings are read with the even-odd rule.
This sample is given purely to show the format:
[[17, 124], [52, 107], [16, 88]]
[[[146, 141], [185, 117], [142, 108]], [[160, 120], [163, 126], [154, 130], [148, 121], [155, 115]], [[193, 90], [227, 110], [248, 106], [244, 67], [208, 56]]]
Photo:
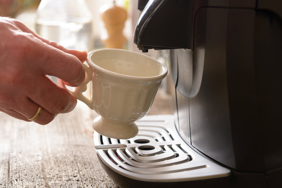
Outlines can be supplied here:
[[92, 50], [92, 14], [84, 0], [41, 0], [36, 32], [74, 50]]

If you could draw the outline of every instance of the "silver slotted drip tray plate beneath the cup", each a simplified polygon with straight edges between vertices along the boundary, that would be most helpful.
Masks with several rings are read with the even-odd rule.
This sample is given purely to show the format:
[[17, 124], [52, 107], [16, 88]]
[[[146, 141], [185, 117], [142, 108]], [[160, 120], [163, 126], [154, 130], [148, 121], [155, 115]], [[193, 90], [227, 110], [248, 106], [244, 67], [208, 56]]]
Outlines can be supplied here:
[[126, 140], [94, 132], [96, 152], [114, 172], [146, 182], [182, 182], [230, 175], [229, 169], [202, 157], [181, 139], [173, 115], [147, 115], [136, 124], [138, 135]]

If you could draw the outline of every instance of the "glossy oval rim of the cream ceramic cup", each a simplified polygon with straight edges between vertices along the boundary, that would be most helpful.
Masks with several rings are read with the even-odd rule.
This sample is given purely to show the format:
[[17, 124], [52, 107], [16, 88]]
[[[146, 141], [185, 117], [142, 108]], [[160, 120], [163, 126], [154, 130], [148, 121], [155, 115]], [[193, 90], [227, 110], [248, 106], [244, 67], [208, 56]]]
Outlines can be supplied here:
[[[156, 75], [156, 76], [151, 76], [151, 77], [138, 77], [138, 76], [130, 76], [130, 75], [125, 75], [125, 74], [116, 73], [116, 72], [113, 72], [113, 71], [104, 69], [104, 68], [102, 68], [102, 67], [96, 65], [96, 64], [91, 60], [92, 54], [93, 54], [93, 53], [96, 53], [96, 52], [99, 52], [99, 51], [123, 51], [123, 52], [126, 52], [126, 53], [135, 53], [136, 55], [145, 56], [145, 57], [147, 57], [147, 58], [149, 58], [149, 59], [152, 59], [152, 60], [155, 61], [155, 62], [158, 62], [158, 63], [162, 66], [163, 72], [162, 72], [161, 74], [158, 74], [158, 75]], [[166, 67], [164, 64], [162, 64], [160, 61], [158, 61], [157, 59], [154, 59], [154, 58], [152, 58], [152, 57], [150, 57], [150, 56], [148, 56], [148, 55], [142, 54], [142, 53], [134, 52], [134, 51], [131, 51], [131, 50], [117, 49], [117, 48], [103, 48], [103, 49], [92, 50], [91, 52], [89, 52], [89, 53], [87, 54], [87, 60], [86, 60], [86, 62], [87, 62], [87, 64], [88, 64], [91, 68], [94, 68], [94, 69], [96, 69], [96, 70], [98, 70], [98, 71], [103, 71], [103, 72], [105, 72], [105, 73], [107, 73], [107, 74], [109, 74], [109, 75], [114, 75], [114, 76], [118, 76], [118, 77], [123, 77], [123, 78], [124, 78], [124, 77], [127, 77], [127, 78], [129, 78], [129, 79], [133, 79], [133, 78], [135, 78], [135, 79], [142, 79], [142, 80], [144, 80], [144, 79], [145, 79], [145, 80], [146, 80], [146, 79], [150, 79], [150, 80], [152, 80], [152, 79], [160, 79], [160, 78], [164, 78], [164, 77], [167, 75], [167, 73], [168, 73], [167, 67]], [[91, 66], [91, 65], [92, 65], [92, 66]]]

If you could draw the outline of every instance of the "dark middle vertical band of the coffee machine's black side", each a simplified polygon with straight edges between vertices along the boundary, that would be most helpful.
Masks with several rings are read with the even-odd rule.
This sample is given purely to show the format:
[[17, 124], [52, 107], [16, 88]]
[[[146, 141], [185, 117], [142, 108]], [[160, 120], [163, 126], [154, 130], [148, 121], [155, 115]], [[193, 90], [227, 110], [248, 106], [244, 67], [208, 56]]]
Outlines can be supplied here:
[[228, 10], [227, 80], [232, 139], [238, 170], [264, 171], [254, 59], [255, 10]]

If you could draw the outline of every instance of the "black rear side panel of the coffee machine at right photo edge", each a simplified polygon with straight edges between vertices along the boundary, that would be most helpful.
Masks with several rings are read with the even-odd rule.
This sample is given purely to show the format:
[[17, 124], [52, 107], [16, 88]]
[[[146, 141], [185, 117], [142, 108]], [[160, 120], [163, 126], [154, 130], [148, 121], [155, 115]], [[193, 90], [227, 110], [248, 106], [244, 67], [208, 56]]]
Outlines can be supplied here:
[[[281, 5], [281, 1], [279, 3]], [[262, 142], [265, 146], [265, 167], [267, 171], [271, 171], [270, 174], [277, 173], [277, 183], [280, 182], [279, 177], [282, 177], [281, 18], [273, 12], [257, 11], [255, 20], [255, 77], [259, 124], [264, 134]]]

